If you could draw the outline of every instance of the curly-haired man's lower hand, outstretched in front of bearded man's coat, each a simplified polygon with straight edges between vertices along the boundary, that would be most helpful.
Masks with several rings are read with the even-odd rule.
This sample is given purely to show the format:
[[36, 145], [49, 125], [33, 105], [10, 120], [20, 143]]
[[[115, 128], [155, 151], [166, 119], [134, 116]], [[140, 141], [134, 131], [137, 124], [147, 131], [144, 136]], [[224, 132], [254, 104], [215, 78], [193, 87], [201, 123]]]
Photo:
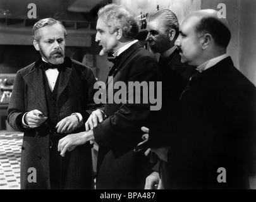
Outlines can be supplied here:
[[60, 151], [61, 156], [64, 157], [66, 151], [72, 151], [73, 149], [75, 149], [76, 146], [83, 145], [90, 140], [94, 140], [93, 131], [68, 134], [67, 136], [59, 140], [58, 151]]

